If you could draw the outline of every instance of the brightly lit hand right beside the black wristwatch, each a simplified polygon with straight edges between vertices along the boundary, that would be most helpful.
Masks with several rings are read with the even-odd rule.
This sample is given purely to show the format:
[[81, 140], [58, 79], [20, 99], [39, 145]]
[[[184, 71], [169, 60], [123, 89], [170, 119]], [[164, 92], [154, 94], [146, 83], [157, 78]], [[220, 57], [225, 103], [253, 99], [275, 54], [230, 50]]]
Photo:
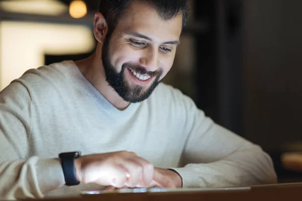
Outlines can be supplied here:
[[152, 183], [154, 166], [133, 152], [92, 154], [74, 159], [80, 182], [122, 187], [144, 187]]

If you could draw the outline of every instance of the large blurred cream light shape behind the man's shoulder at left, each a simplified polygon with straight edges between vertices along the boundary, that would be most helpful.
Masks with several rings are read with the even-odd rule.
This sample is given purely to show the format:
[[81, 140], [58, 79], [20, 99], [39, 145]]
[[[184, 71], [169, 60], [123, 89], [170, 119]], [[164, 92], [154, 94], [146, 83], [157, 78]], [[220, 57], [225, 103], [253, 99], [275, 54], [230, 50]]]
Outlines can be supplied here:
[[94, 47], [93, 33], [86, 26], [2, 21], [0, 90], [26, 70], [44, 65], [45, 54], [84, 54]]

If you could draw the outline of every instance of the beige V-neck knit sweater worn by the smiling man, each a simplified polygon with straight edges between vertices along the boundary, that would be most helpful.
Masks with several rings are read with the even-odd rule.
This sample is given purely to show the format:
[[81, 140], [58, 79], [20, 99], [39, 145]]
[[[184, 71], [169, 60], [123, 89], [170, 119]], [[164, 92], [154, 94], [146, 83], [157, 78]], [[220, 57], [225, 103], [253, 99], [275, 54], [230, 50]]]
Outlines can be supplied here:
[[215, 124], [193, 101], [160, 84], [115, 109], [72, 61], [27, 71], [0, 93], [0, 199], [79, 195], [104, 186], [64, 186], [60, 152], [136, 152], [174, 168], [184, 187], [275, 183], [270, 157]]

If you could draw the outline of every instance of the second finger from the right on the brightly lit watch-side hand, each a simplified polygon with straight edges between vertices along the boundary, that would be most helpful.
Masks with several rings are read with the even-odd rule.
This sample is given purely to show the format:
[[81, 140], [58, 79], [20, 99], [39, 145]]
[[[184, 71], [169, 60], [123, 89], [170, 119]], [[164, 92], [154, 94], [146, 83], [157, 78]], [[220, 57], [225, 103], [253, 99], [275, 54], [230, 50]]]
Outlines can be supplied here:
[[139, 179], [142, 176], [142, 165], [137, 163], [136, 160], [127, 159], [123, 164], [127, 171], [127, 181], [125, 183], [128, 187], [135, 187], [139, 184]]

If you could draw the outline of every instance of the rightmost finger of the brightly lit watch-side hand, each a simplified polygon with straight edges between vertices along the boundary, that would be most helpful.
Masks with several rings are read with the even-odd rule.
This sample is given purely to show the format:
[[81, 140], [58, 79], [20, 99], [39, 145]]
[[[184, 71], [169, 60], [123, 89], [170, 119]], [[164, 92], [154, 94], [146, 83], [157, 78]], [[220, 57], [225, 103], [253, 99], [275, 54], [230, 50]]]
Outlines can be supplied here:
[[149, 186], [153, 180], [153, 174], [154, 174], [153, 164], [141, 157], [135, 157], [133, 159], [142, 166], [142, 174], [140, 177], [139, 186], [137, 187]]

